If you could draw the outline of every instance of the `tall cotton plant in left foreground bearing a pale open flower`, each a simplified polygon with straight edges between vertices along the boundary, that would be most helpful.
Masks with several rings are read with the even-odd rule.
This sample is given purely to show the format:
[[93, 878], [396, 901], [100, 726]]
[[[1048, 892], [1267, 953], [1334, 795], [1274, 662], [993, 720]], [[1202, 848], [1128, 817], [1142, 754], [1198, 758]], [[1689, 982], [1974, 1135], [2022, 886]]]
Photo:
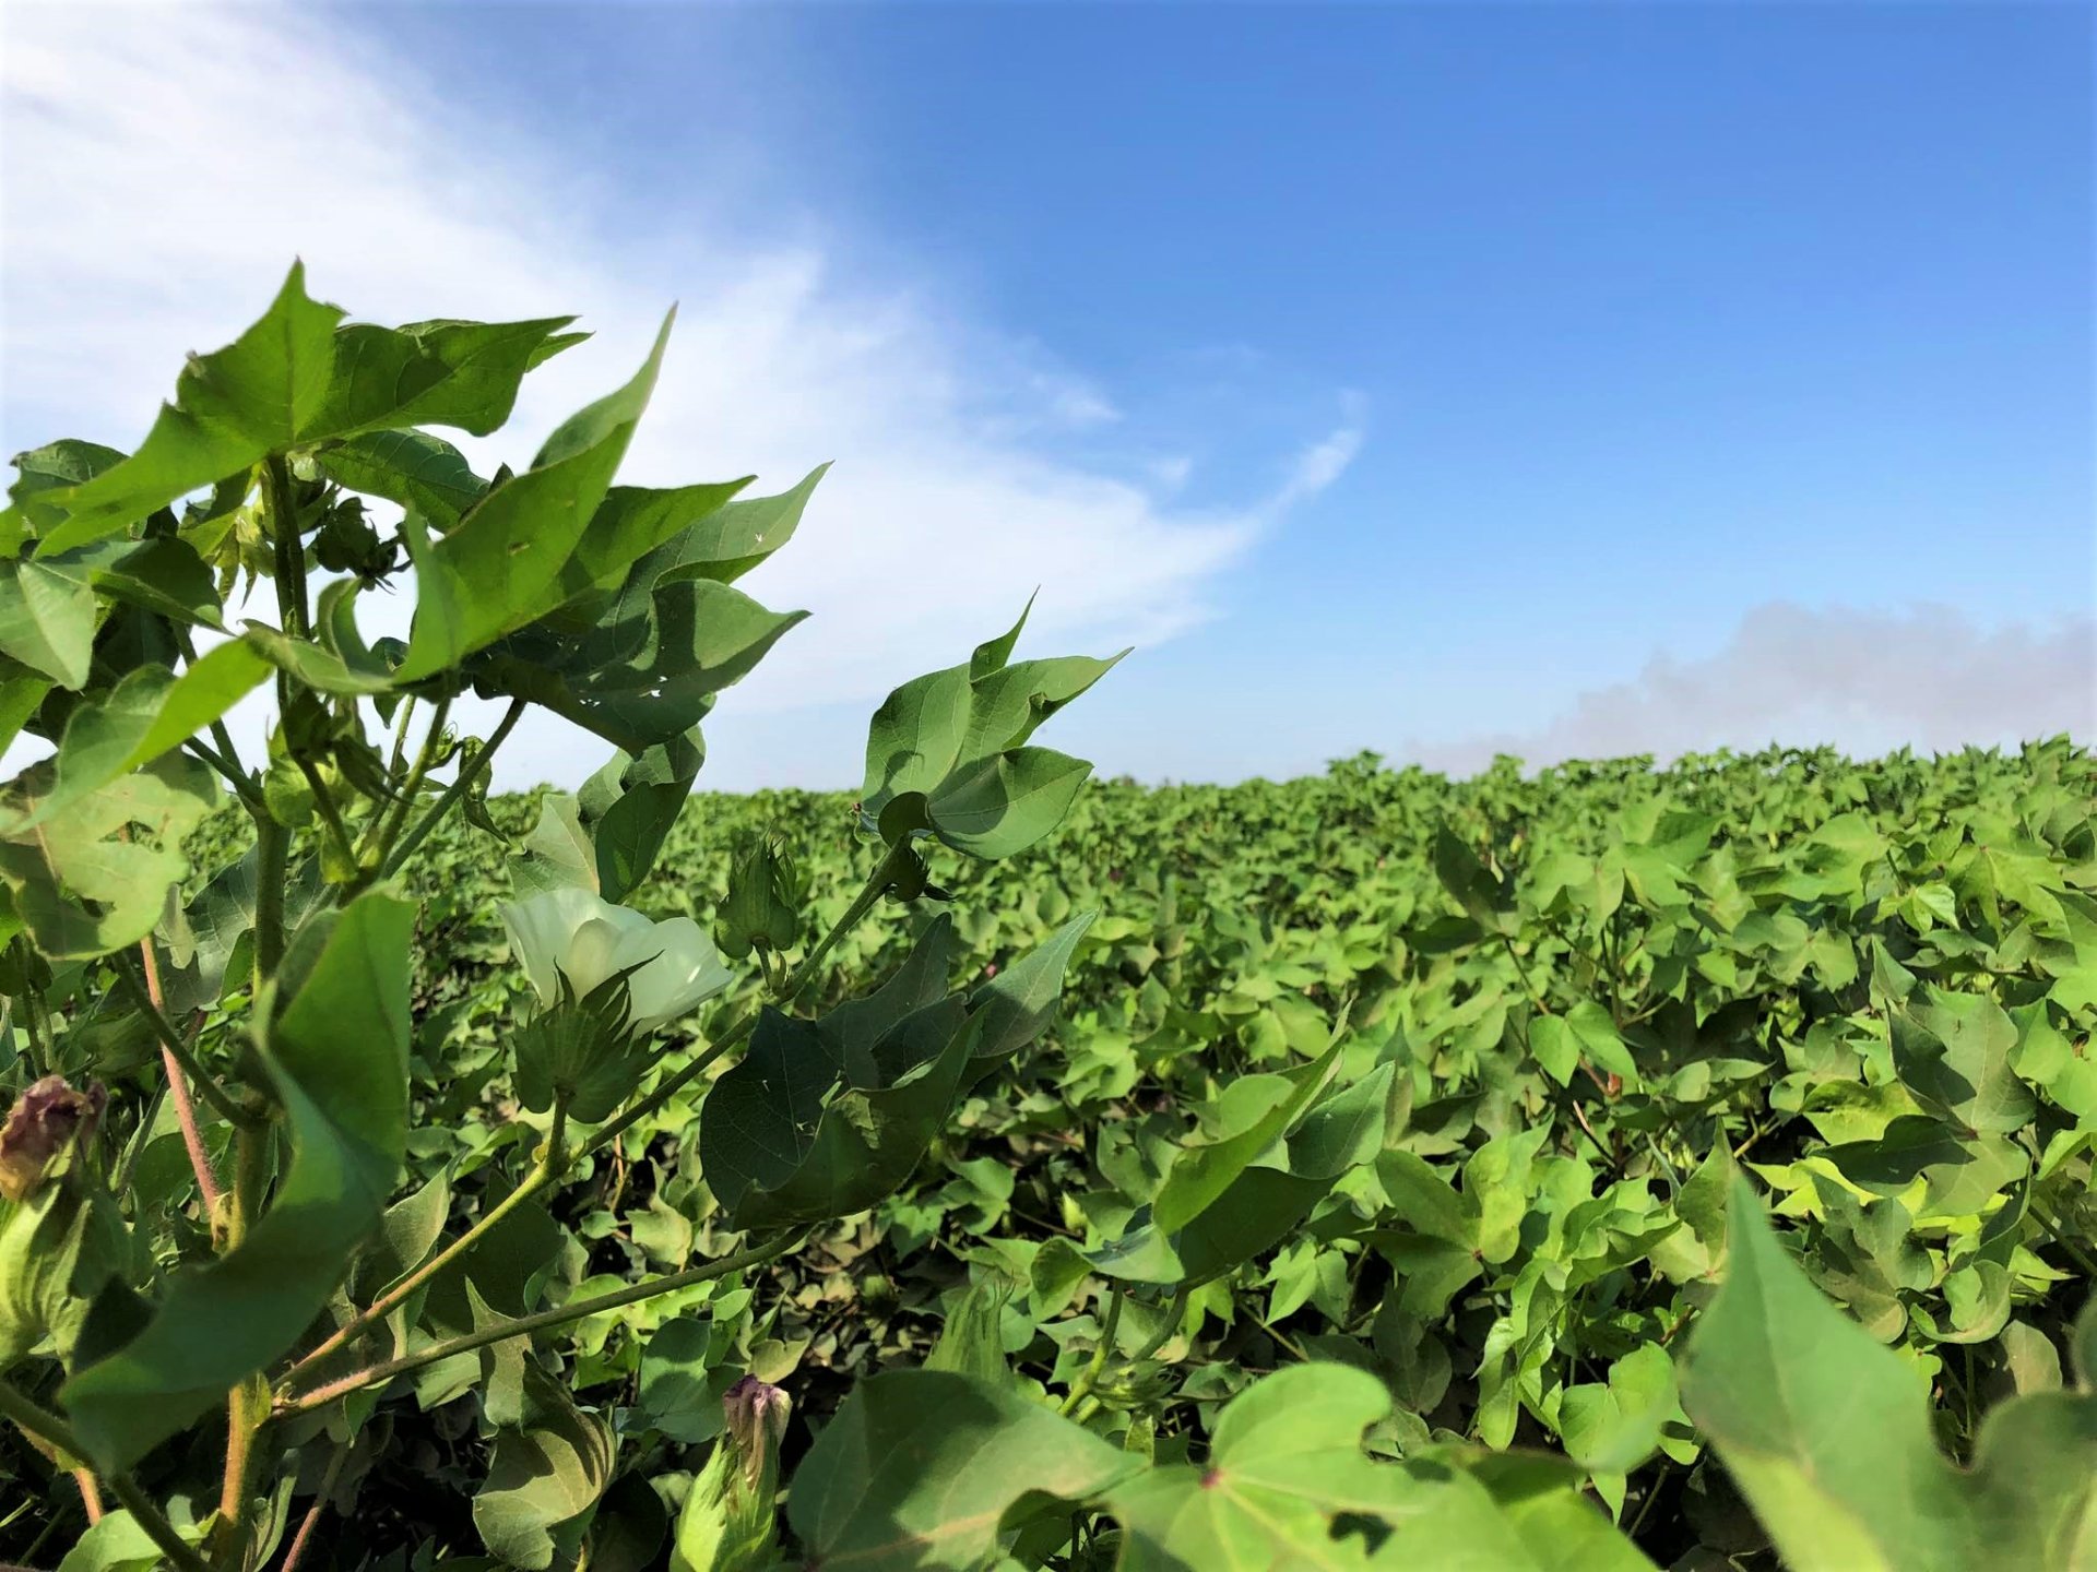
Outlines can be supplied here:
[[[761, 1291], [759, 1268], [816, 1220], [908, 1178], [963, 1071], [994, 1073], [1048, 1023], [1082, 920], [944, 1002], [944, 952], [918, 966], [937, 1008], [881, 1044], [908, 1096], [866, 1079], [864, 1052], [803, 1056], [793, 1086], [768, 1069], [786, 1040], [851, 1038], [797, 1004], [818, 979], [839, 991], [837, 941], [883, 905], [925, 929], [929, 857], [1004, 857], [1061, 824], [1090, 767], [1030, 736], [1111, 662], [1015, 664], [1019, 627], [874, 717], [864, 794], [900, 807], [866, 824], [837, 922], [803, 935], [809, 891], [778, 836], [719, 912], [658, 922], [627, 903], [698, 776], [700, 721], [803, 618], [734, 581], [793, 539], [822, 472], [770, 497], [747, 480], [614, 484], [665, 323], [627, 384], [516, 467], [476, 474], [440, 432], [493, 436], [522, 377], [583, 337], [570, 321], [354, 323], [294, 266], [254, 327], [191, 356], [134, 453], [59, 440], [15, 459], [0, 746], [50, 757], [0, 788], [0, 996], [25, 1027], [0, 1067], [0, 1421], [31, 1448], [6, 1457], [42, 1471], [38, 1555], [312, 1564], [323, 1520], [354, 1511], [346, 1459], [396, 1446], [394, 1419], [415, 1423], [421, 1396], [484, 1356], [510, 1375], [470, 1448], [480, 1549], [520, 1568], [589, 1559], [617, 1522], [608, 1492], [648, 1494], [621, 1476], [644, 1453], [619, 1444], [560, 1339], [713, 1281]], [[413, 595], [407, 639], [361, 633], [380, 591]], [[275, 706], [260, 757], [224, 723], [250, 694]], [[466, 694], [505, 704], [487, 736], [453, 725]], [[430, 931], [415, 891], [432, 843], [497, 832], [489, 771], [533, 706], [610, 759], [512, 847], [501, 922], [537, 1008], [491, 1069], [453, 1082], [413, 1052]], [[218, 811], [245, 849], [197, 868]], [[732, 956], [757, 952], [755, 977], [709, 926]], [[541, 1138], [432, 1170], [428, 1153], [474, 1144], [445, 1121], [484, 1107], [543, 1115]], [[705, 1186], [690, 1172], [673, 1195], [711, 1209], [696, 1260], [537, 1308], [499, 1287], [507, 1222], [535, 1209], [564, 1228], [587, 1209], [564, 1191], [694, 1117]], [[533, 1339], [520, 1373], [505, 1350]], [[757, 1406], [770, 1457], [786, 1398]], [[753, 1555], [772, 1518], [770, 1471], [755, 1480], [736, 1507]]]

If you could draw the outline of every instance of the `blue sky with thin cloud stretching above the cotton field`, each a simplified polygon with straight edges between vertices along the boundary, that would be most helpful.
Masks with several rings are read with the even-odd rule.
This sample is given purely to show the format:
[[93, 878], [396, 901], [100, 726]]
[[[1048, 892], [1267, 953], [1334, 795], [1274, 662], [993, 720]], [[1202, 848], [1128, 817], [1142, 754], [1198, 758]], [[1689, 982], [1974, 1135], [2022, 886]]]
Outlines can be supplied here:
[[[853, 599], [929, 589], [906, 616], [923, 637], [879, 646], [929, 664], [1036, 581], [1036, 652], [1139, 641], [1057, 723], [1109, 773], [2097, 723], [2087, 8], [306, 15], [331, 29], [331, 69], [432, 115], [451, 197], [487, 201], [472, 172], [493, 168], [510, 195], [470, 245], [587, 239], [554, 279], [617, 287], [621, 310], [732, 302], [772, 277], [765, 258], [816, 258], [822, 310], [791, 314], [814, 310], [824, 354], [889, 323], [889, 348], [841, 361], [843, 392], [805, 369], [801, 329], [763, 344], [801, 371], [759, 356], [721, 375], [824, 388], [845, 438], [826, 505], [895, 543], [874, 560], [910, 558], [923, 507], [948, 520], [925, 526], [937, 551], [981, 549], [986, 572], [786, 576], [812, 635], [826, 614], [841, 631], [749, 706], [728, 696], [717, 784], [851, 778], [864, 677], [822, 667], [879, 671], [874, 687], [918, 669], [853, 641]], [[258, 224], [256, 277], [287, 239], [323, 291], [329, 247], [375, 247]], [[10, 296], [59, 296], [36, 266]], [[356, 260], [388, 291], [413, 283], [380, 266]], [[67, 285], [75, 310], [90, 283]], [[891, 350], [908, 375], [874, 369]], [[15, 446], [46, 434], [31, 419], [130, 388], [13, 384]], [[918, 467], [879, 470], [925, 430]], [[830, 457], [820, 430], [759, 436], [759, 457], [723, 461]], [[969, 476], [952, 495], [944, 459]], [[826, 539], [845, 528], [797, 549]], [[558, 773], [564, 755], [535, 759]]]

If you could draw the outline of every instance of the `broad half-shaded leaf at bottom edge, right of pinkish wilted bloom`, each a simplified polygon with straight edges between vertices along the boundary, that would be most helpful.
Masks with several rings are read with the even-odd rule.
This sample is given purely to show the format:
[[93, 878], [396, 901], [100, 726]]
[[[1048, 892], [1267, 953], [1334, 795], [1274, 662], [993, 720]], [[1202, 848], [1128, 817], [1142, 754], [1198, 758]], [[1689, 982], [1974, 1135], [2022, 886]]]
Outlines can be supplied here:
[[973, 1572], [1030, 1497], [1086, 1501], [1137, 1467], [1004, 1388], [952, 1371], [883, 1371], [816, 1436], [786, 1520], [820, 1566]]

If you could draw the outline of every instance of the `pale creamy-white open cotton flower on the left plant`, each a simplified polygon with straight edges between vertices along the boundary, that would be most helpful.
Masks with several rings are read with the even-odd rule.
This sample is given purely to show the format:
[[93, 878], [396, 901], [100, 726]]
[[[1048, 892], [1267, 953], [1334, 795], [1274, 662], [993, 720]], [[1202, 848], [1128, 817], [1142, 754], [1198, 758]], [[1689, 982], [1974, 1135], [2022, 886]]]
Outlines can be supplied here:
[[587, 998], [608, 977], [640, 966], [627, 977], [631, 1031], [654, 1031], [736, 981], [692, 918], [650, 922], [587, 889], [549, 889], [505, 901], [503, 926], [539, 1000], [549, 1006], [560, 1002], [562, 977], [575, 998]]

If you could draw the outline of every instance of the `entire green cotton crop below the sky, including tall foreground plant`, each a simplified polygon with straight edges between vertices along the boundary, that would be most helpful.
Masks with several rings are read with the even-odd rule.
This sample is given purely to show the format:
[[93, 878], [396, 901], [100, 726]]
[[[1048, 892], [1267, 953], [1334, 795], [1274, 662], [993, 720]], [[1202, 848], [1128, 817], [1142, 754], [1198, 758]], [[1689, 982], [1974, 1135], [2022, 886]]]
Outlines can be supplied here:
[[577, 337], [17, 459], [0, 1562], [2091, 1564], [2089, 752], [1086, 784], [1013, 627], [694, 805], [824, 472], [476, 474]]

